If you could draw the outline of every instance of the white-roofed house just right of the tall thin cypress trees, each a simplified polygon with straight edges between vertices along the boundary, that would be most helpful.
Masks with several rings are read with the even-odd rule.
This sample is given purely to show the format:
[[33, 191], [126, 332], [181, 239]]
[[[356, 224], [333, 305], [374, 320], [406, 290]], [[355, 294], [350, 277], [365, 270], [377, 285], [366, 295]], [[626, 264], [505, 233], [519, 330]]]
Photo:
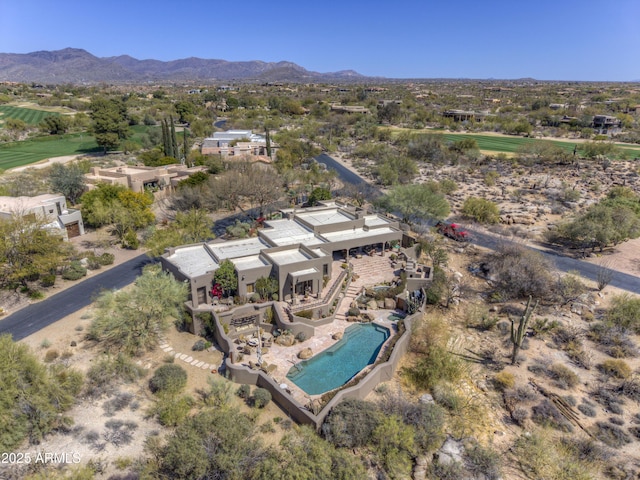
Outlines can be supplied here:
[[[274, 156], [277, 146], [271, 144], [271, 155]], [[215, 132], [213, 137], [205, 138], [200, 152], [203, 155], [232, 156], [267, 156], [267, 139], [251, 130], [228, 130]]]

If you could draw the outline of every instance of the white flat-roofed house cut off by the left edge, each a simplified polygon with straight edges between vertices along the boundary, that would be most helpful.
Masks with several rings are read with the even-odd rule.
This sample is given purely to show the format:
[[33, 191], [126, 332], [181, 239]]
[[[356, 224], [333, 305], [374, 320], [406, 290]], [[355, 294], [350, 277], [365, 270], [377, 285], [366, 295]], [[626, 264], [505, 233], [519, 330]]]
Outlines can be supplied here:
[[67, 208], [64, 195], [47, 193], [35, 197], [0, 197], [0, 219], [14, 215], [47, 222], [47, 228], [59, 231], [65, 240], [84, 235], [80, 210]]

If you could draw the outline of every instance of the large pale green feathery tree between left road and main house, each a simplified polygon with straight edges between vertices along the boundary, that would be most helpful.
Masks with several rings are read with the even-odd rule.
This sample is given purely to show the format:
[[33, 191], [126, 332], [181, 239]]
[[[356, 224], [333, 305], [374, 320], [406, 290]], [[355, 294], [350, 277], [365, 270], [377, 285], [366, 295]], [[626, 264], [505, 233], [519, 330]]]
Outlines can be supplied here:
[[155, 348], [180, 318], [187, 286], [159, 265], [146, 266], [133, 288], [102, 293], [89, 338], [106, 349], [138, 355]]

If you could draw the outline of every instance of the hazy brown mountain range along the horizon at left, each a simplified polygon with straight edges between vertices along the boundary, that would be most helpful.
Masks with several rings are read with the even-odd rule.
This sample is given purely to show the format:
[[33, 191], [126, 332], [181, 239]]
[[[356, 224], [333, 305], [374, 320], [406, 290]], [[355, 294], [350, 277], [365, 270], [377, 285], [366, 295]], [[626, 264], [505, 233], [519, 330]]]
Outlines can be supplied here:
[[183, 58], [164, 62], [128, 55], [96, 57], [65, 48], [32, 53], [0, 53], [0, 81], [21, 83], [156, 83], [156, 82], [349, 82], [363, 80], [353, 70], [318, 73], [292, 62], [229, 62]]

